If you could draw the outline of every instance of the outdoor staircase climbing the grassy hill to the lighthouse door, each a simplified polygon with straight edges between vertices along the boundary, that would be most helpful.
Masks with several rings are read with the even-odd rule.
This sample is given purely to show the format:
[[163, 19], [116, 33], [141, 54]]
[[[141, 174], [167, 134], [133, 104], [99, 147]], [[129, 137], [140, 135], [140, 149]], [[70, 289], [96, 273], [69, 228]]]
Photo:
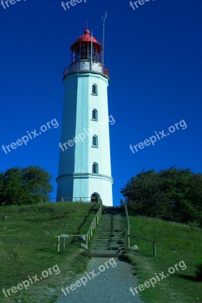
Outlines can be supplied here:
[[123, 208], [105, 207], [90, 245], [92, 257], [120, 257], [126, 247], [126, 215]]

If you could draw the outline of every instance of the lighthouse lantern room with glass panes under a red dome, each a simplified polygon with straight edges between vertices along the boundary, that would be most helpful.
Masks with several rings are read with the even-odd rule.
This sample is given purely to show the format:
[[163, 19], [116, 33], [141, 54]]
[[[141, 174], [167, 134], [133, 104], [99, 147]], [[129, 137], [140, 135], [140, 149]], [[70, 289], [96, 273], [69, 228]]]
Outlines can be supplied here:
[[72, 57], [71, 64], [78, 61], [91, 61], [102, 64], [102, 45], [90, 35], [88, 29], [85, 30], [84, 35], [76, 39], [76, 42], [71, 46]]

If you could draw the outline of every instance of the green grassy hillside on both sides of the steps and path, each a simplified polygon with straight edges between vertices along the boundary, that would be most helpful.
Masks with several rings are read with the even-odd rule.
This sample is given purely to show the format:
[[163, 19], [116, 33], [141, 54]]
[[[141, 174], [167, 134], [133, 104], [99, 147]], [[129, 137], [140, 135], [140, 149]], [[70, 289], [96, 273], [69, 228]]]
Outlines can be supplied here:
[[[66, 240], [65, 252], [58, 254], [54, 236], [86, 233], [98, 207], [91, 203], [46, 203], [0, 208], [1, 289], [11, 289], [29, 277], [34, 281], [32, 277], [40, 278], [43, 271], [48, 273], [52, 268], [52, 274], [30, 283], [27, 290], [11, 292], [8, 297], [1, 291], [0, 301], [54, 303], [61, 287], [70, 285], [77, 274], [85, 272], [88, 262], [88, 258], [81, 255], [78, 241], [72, 238]], [[8, 218], [5, 220], [4, 216]], [[159, 273], [166, 275], [155, 287], [137, 289], [142, 300], [145, 303], [202, 302], [202, 282], [195, 279], [195, 266], [202, 259], [202, 230], [194, 225], [132, 215], [130, 227], [131, 235], [159, 241], [157, 258], [153, 258], [151, 242], [131, 237], [131, 245], [136, 244], [139, 250], [125, 256], [134, 263], [139, 284], [156, 275], [161, 278]], [[167, 276], [168, 269], [182, 260], [186, 269], [178, 266], [178, 271]]]

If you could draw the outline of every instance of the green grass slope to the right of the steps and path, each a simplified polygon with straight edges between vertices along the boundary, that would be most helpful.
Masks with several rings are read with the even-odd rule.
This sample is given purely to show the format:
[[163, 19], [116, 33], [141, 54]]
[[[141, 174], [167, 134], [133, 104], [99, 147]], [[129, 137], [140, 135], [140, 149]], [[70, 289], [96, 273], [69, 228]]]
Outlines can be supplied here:
[[145, 303], [202, 302], [202, 282], [195, 278], [195, 267], [202, 256], [201, 229], [153, 218], [130, 216], [130, 234], [159, 241], [156, 244], [157, 258], [154, 258], [153, 243], [130, 238], [131, 245], [136, 244], [139, 250], [126, 254], [126, 257], [135, 266], [139, 284], [155, 277], [155, 273], [164, 271], [164, 274], [168, 274], [168, 269], [182, 260], [186, 264], [185, 270], [178, 266], [178, 271], [157, 282], [155, 287], [138, 290]]

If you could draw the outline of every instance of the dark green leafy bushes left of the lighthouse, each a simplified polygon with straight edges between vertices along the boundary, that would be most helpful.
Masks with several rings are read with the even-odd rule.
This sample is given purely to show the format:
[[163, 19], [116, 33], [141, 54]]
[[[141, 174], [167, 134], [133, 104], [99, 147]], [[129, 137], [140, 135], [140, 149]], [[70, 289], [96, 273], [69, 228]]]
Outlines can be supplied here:
[[0, 204], [21, 205], [48, 199], [52, 177], [38, 166], [14, 167], [0, 174]]

